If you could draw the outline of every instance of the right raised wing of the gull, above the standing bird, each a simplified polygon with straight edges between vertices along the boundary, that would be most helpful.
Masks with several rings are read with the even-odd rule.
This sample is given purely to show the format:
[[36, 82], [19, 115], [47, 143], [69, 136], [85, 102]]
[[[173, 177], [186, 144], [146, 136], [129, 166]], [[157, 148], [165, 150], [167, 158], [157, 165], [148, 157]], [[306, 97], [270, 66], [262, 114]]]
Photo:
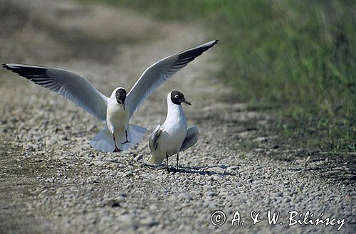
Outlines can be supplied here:
[[170, 55], [147, 68], [127, 95], [125, 103], [130, 107], [130, 117], [162, 83], [217, 42], [218, 40], [210, 41]]

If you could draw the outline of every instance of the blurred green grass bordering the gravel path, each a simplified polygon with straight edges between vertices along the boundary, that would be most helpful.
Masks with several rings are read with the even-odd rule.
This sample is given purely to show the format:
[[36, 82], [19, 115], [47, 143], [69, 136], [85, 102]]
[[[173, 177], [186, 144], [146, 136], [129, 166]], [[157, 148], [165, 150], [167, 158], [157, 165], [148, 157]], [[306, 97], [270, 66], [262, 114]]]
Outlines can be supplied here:
[[236, 100], [273, 113], [296, 147], [356, 151], [356, 1], [99, 1], [205, 21]]

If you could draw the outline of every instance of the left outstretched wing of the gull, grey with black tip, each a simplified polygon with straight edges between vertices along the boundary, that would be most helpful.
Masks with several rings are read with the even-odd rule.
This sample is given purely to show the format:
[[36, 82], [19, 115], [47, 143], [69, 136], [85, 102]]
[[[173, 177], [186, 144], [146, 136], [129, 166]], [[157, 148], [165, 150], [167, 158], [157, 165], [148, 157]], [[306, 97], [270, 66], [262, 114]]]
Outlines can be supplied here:
[[80, 75], [67, 70], [36, 65], [5, 63], [3, 67], [66, 97], [98, 119], [106, 119], [108, 97], [96, 90], [88, 80]]

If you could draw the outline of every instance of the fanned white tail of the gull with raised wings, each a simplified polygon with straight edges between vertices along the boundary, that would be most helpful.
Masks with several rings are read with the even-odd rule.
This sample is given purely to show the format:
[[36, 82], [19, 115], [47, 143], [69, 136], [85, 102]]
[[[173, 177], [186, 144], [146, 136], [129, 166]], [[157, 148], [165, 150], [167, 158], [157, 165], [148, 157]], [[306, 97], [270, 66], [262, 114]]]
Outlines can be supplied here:
[[[125, 133], [120, 137], [116, 137], [117, 148], [122, 151], [126, 151], [141, 141], [142, 137], [145, 136], [146, 129], [134, 124], [129, 124], [127, 129], [127, 139], [130, 141], [126, 144], [121, 144], [125, 142]], [[112, 140], [112, 134], [110, 134], [107, 126], [103, 128], [98, 134], [90, 140], [89, 144], [100, 151], [112, 152], [115, 149], [114, 141]]]

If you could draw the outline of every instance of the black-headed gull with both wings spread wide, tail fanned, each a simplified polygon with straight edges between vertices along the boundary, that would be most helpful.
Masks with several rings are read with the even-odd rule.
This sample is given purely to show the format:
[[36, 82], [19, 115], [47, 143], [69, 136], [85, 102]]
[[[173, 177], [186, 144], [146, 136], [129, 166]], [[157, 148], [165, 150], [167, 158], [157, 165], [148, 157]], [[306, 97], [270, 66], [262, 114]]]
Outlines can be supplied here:
[[130, 92], [117, 87], [110, 97], [95, 89], [85, 78], [67, 70], [16, 63], [4, 63], [3, 67], [58, 93], [105, 121], [104, 129], [89, 143], [100, 151], [117, 152], [134, 147], [145, 135], [145, 128], [129, 124], [129, 120], [147, 97], [216, 43], [217, 40], [210, 41], [159, 60], [142, 73]]

